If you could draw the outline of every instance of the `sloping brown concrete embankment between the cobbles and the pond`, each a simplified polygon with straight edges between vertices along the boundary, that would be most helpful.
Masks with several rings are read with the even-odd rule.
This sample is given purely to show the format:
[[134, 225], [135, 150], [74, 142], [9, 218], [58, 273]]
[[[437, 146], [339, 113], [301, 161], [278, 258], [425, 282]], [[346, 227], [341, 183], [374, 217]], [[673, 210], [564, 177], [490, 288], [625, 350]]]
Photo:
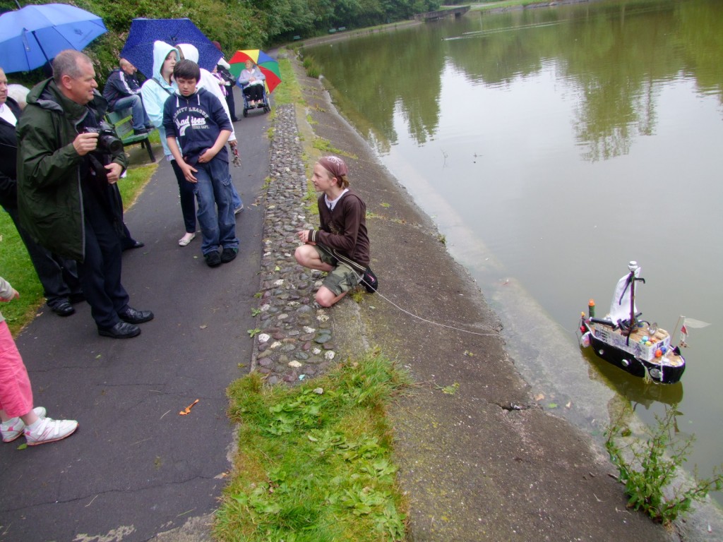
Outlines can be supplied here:
[[335, 112], [320, 82], [294, 66], [307, 101], [296, 111], [299, 131], [343, 151], [367, 202], [380, 278], [377, 294], [326, 311], [336, 353], [377, 345], [419, 382], [391, 413], [411, 539], [669, 540], [625, 509], [623, 487], [592, 439], [536, 405], [505, 351], [499, 319], [434, 224]]

